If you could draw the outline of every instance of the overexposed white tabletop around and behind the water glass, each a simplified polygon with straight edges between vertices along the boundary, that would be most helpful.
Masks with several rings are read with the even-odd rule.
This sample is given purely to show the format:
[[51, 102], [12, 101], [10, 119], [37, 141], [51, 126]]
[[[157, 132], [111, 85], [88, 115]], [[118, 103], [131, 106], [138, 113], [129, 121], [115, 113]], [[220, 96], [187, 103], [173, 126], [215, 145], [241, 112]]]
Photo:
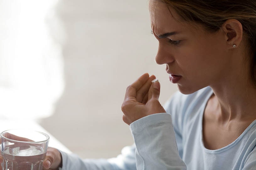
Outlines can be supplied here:
[[63, 152], [71, 153], [71, 151], [65, 147], [60, 141], [53, 137], [48, 131], [46, 131], [42, 126], [40, 126], [35, 121], [27, 120], [0, 120], [0, 131], [5, 131], [9, 129], [33, 129], [35, 131], [41, 131], [49, 135], [49, 147], [55, 147]]

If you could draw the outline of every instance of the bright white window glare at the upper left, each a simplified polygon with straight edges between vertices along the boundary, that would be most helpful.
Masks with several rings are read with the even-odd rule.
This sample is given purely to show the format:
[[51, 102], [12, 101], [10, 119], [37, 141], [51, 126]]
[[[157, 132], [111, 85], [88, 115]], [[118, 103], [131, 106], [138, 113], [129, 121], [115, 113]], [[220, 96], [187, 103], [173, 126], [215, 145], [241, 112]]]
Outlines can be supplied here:
[[64, 88], [60, 45], [47, 24], [56, 3], [0, 0], [0, 118], [38, 119], [53, 113]]

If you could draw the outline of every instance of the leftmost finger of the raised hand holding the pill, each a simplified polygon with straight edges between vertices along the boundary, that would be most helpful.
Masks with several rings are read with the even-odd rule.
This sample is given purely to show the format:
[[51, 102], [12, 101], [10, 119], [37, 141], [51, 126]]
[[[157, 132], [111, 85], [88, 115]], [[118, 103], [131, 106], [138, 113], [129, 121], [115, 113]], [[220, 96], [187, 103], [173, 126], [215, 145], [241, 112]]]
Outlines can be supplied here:
[[125, 99], [129, 97], [136, 98], [137, 91], [146, 83], [149, 79], [149, 74], [145, 73], [141, 75], [133, 84], [129, 85], [126, 89]]

